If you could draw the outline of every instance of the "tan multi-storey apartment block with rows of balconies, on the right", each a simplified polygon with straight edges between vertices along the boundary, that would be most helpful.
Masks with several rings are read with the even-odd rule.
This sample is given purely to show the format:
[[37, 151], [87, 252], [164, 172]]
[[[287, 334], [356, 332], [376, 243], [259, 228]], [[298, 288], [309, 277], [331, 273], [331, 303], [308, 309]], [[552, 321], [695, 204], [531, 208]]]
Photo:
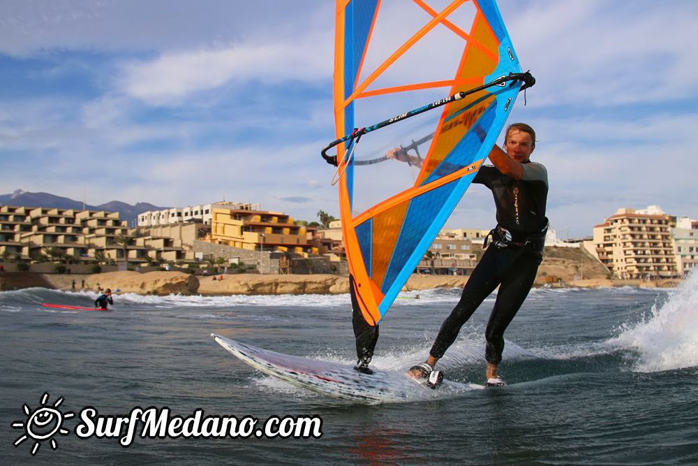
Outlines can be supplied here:
[[679, 275], [671, 228], [676, 217], [652, 205], [621, 208], [593, 228], [598, 259], [616, 278], [669, 278]]

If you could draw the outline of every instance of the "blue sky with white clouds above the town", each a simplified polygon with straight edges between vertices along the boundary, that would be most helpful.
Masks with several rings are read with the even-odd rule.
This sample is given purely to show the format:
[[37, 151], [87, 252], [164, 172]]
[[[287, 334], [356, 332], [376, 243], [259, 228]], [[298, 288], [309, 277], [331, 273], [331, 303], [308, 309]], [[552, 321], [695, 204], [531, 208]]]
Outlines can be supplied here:
[[[537, 80], [509, 122], [536, 130], [558, 237], [620, 207], [698, 219], [698, 1], [498, 6]], [[0, 194], [339, 217], [320, 158], [335, 138], [333, 41], [329, 0], [2, 0]], [[447, 226], [494, 223], [474, 186]]]

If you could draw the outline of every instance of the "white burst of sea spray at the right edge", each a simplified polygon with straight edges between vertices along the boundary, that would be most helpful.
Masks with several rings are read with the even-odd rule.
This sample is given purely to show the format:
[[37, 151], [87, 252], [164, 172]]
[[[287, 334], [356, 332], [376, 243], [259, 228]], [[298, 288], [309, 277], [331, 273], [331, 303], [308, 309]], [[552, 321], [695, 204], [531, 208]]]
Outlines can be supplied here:
[[637, 351], [639, 372], [698, 366], [698, 272], [653, 307], [644, 321], [627, 328], [610, 343]]

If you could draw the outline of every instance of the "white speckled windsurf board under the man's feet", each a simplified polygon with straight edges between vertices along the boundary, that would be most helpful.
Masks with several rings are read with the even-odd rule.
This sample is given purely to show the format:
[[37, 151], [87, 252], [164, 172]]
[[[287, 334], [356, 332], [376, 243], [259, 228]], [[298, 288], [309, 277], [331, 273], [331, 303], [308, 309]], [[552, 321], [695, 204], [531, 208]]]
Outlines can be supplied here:
[[402, 371], [374, 369], [373, 374], [362, 374], [355, 371], [352, 365], [276, 353], [215, 333], [211, 333], [211, 337], [240, 361], [265, 374], [346, 400], [369, 403], [415, 401], [484, 388], [445, 380], [438, 390], [431, 390], [409, 379]]

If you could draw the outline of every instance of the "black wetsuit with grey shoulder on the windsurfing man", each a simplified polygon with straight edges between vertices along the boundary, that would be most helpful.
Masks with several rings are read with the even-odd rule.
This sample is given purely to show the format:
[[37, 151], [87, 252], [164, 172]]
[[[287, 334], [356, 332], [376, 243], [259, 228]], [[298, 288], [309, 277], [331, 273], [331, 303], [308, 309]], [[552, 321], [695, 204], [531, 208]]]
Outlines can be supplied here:
[[538, 265], [548, 219], [547, 170], [540, 163], [523, 164], [523, 179], [503, 175], [493, 166], [483, 166], [473, 183], [491, 189], [497, 207], [498, 225], [491, 231], [492, 244], [482, 255], [463, 288], [461, 300], [443, 322], [429, 353], [442, 358], [484, 298], [499, 286], [487, 323], [487, 362], [498, 365], [504, 351], [504, 330], [528, 296]]

